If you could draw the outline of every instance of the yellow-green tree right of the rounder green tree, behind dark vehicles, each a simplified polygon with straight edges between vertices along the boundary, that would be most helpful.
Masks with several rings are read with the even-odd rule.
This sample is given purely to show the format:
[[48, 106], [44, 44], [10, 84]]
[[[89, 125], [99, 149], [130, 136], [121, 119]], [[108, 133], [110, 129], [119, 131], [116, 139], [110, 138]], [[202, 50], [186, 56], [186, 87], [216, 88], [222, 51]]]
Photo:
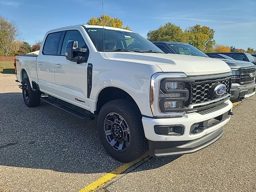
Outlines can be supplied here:
[[185, 30], [188, 43], [195, 46], [202, 52], [212, 52], [215, 45], [214, 30], [207, 26], [195, 25]]

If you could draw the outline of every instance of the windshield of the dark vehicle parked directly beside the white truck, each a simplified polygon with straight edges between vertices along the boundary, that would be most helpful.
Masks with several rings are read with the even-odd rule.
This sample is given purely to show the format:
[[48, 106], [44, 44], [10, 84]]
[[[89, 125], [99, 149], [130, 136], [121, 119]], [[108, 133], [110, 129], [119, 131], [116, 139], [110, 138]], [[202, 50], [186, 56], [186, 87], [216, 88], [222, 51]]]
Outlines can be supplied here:
[[199, 49], [195, 48], [194, 46], [192, 46], [190, 44], [177, 44], [177, 43], [175, 43], [175, 44], [168, 44], [168, 45], [177, 54], [208, 57], [202, 51], [200, 51]]

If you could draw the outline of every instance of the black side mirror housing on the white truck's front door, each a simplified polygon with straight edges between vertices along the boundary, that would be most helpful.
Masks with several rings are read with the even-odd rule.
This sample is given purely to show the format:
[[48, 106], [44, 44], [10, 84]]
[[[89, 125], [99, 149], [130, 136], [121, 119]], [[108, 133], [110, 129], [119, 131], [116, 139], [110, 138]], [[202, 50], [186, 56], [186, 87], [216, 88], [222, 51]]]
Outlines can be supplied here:
[[66, 46], [65, 56], [67, 60], [76, 61], [78, 64], [80, 64], [81, 62], [83, 62], [83, 54], [86, 54], [86, 52], [86, 48], [78, 48], [77, 41], [70, 41]]

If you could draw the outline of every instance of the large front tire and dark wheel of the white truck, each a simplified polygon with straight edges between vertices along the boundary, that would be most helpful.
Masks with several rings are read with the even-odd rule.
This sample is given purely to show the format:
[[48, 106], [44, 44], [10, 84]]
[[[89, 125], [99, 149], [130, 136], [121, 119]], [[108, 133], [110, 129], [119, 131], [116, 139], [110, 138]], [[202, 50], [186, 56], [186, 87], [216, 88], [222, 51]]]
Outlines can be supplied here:
[[112, 100], [101, 108], [98, 132], [110, 156], [121, 162], [131, 162], [148, 150], [141, 119], [138, 107], [128, 99]]

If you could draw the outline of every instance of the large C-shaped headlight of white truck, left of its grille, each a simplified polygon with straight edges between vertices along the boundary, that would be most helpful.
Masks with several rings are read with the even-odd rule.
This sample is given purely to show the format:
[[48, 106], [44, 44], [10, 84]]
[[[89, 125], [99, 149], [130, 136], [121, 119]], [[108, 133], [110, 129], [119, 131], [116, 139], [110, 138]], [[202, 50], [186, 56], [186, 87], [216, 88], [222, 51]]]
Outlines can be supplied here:
[[[154, 116], [183, 116], [189, 91], [184, 73], [156, 73], [151, 80], [151, 108]], [[183, 82], [184, 81], [184, 82]]]

